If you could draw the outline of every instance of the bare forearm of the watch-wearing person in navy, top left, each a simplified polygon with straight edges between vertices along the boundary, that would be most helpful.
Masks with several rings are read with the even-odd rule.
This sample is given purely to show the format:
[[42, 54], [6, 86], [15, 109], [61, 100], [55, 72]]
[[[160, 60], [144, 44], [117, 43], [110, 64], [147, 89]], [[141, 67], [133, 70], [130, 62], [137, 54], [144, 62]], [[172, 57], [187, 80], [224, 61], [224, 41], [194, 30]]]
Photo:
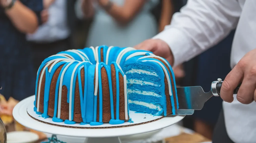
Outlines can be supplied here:
[[23, 33], [34, 33], [38, 27], [36, 14], [23, 5], [20, 1], [16, 1], [11, 9], [5, 11], [15, 27]]

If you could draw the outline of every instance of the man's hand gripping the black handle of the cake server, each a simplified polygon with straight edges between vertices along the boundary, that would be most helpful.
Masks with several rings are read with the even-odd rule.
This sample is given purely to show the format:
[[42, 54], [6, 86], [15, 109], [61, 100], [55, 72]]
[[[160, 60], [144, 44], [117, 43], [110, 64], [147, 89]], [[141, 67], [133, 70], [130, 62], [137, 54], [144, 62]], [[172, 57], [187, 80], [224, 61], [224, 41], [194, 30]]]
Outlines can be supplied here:
[[230, 71], [222, 83], [220, 97], [233, 101], [233, 90], [240, 84], [237, 100], [243, 104], [256, 101], [256, 49], [247, 53]]

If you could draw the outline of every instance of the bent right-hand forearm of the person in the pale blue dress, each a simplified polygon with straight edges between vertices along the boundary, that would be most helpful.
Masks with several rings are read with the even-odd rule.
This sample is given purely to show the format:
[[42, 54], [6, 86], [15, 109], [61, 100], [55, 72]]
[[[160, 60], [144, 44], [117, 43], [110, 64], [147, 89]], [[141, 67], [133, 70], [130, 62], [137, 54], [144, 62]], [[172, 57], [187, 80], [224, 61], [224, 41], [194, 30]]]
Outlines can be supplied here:
[[145, 0], [126, 0], [123, 6], [115, 3], [109, 10], [106, 10], [118, 23], [126, 24], [130, 22], [145, 4]]

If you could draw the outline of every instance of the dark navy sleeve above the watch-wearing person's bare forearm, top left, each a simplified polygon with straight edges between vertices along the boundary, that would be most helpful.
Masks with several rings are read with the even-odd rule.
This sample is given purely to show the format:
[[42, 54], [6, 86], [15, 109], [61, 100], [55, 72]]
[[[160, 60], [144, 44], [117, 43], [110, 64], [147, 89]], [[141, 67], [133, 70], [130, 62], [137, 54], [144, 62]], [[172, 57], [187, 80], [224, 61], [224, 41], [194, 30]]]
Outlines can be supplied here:
[[23, 4], [35, 12], [38, 24], [41, 25], [41, 11], [44, 9], [43, 0], [26, 0]]

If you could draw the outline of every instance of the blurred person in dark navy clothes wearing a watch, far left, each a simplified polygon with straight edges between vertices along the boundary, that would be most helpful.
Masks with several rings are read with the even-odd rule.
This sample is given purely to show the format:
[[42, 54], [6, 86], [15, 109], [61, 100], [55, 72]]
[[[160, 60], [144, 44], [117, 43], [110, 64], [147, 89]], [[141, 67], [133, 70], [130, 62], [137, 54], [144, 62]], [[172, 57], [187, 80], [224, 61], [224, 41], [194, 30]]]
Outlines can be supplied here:
[[22, 100], [35, 93], [26, 33], [41, 24], [42, 0], [0, 0], [0, 93]]

